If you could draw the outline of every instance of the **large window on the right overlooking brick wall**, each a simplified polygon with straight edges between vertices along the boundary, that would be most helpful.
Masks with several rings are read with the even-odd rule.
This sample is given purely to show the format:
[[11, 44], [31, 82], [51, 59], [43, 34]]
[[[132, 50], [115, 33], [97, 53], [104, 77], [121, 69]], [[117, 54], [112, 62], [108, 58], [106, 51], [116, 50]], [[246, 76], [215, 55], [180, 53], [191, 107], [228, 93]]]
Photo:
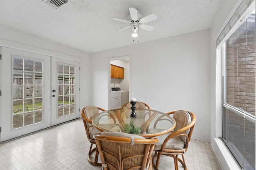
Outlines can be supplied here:
[[255, 169], [255, 1], [244, 0], [217, 39], [222, 47], [222, 139], [242, 169]]

